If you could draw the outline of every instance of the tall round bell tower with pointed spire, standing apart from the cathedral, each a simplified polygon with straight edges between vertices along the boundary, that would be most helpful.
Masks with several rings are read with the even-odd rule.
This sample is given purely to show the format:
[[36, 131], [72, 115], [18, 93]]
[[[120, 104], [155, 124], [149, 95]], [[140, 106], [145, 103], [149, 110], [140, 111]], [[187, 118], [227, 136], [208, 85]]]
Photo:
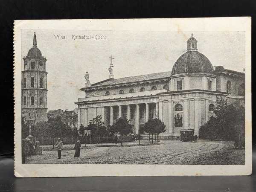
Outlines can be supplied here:
[[22, 71], [22, 113], [26, 119], [35, 119], [36, 122], [47, 121], [47, 59], [42, 56], [37, 47], [34, 33], [33, 47], [27, 56], [23, 57]]

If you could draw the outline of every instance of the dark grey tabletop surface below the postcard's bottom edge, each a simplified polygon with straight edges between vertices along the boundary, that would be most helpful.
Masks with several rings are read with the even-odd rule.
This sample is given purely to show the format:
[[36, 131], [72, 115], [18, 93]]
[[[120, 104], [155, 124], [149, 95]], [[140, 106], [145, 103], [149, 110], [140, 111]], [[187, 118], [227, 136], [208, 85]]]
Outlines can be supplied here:
[[[13, 159], [0, 157], [0, 192], [255, 192], [250, 176], [15, 178]], [[253, 147], [253, 169], [256, 147]]]

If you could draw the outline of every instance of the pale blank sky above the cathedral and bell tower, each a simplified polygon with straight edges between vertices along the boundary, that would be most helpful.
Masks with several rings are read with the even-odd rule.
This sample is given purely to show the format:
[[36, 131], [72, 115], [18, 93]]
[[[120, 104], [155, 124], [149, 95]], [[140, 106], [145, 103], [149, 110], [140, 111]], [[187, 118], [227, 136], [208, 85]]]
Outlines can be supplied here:
[[[48, 110], [77, 107], [74, 102], [84, 97], [79, 90], [90, 82], [108, 79], [113, 55], [114, 78], [171, 71], [175, 61], [186, 52], [186, 41], [193, 33], [198, 51], [213, 66], [243, 71], [245, 66], [244, 32], [215, 31], [87, 31], [87, 30], [22, 30], [21, 64], [32, 48], [34, 32], [37, 46], [47, 58]], [[55, 38], [57, 35], [66, 39]], [[75, 39], [76, 35], [104, 36], [104, 39]]]

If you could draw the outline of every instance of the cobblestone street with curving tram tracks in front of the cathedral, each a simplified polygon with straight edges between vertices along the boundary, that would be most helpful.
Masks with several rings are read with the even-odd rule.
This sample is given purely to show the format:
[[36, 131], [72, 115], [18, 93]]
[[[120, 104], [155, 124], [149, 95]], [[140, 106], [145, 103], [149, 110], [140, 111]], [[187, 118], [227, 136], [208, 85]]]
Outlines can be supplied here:
[[[91, 147], [80, 150], [74, 158], [74, 150], [43, 151], [41, 156], [26, 158], [26, 163], [67, 164], [244, 164], [244, 150], [234, 149], [233, 142], [183, 143], [179, 140], [164, 140], [158, 145]], [[136, 144], [136, 143], [135, 143]], [[148, 142], [149, 144], [149, 142]]]

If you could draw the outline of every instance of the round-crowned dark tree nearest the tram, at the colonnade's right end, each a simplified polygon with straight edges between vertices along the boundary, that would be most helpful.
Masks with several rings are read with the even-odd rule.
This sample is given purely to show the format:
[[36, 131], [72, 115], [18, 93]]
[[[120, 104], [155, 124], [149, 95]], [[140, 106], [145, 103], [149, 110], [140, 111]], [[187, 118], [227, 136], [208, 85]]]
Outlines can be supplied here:
[[166, 125], [160, 119], [148, 119], [148, 122], [145, 123], [144, 131], [148, 134], [152, 134], [152, 143], [153, 143], [153, 134], [157, 134], [158, 141], [160, 141], [159, 134], [166, 131]]

